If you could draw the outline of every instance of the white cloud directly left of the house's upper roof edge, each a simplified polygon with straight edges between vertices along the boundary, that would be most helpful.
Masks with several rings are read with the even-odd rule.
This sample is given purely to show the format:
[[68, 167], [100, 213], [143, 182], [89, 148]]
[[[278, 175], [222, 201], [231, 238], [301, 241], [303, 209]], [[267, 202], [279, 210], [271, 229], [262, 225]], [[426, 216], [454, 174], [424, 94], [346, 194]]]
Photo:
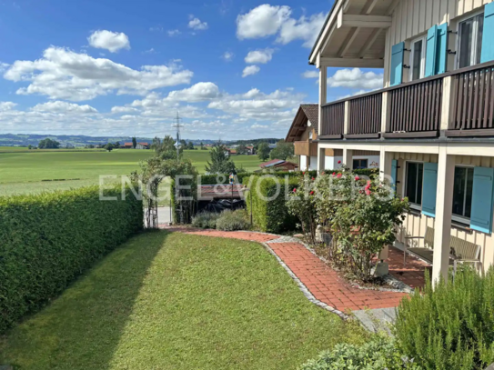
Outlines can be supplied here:
[[295, 20], [290, 18], [287, 22], [281, 25], [277, 42], [287, 45], [294, 40], [304, 40], [305, 47], [312, 47], [318, 38], [319, 32], [324, 25], [326, 15], [320, 13], [318, 15], [301, 16]]

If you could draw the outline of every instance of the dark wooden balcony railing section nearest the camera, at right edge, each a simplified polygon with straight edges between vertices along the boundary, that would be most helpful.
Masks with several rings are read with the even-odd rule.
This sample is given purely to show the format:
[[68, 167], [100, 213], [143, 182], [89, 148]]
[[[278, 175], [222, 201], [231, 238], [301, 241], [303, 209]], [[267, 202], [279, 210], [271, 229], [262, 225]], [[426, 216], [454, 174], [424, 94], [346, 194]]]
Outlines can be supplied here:
[[453, 75], [447, 135], [494, 135], [494, 67], [477, 66]]

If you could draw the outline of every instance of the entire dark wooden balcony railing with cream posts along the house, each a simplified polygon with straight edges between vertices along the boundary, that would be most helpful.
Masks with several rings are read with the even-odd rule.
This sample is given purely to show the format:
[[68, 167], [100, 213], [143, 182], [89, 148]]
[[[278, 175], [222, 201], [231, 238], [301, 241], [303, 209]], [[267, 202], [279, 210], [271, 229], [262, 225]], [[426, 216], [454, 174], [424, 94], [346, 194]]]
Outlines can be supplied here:
[[320, 139], [494, 136], [494, 62], [321, 106]]

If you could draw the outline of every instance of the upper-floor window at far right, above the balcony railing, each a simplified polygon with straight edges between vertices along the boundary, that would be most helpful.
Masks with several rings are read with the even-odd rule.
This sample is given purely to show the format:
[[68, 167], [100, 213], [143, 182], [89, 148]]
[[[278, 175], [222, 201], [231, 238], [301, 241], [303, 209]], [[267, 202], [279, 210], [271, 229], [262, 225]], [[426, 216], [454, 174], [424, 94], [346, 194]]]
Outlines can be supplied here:
[[459, 68], [480, 63], [483, 31], [483, 13], [459, 23]]

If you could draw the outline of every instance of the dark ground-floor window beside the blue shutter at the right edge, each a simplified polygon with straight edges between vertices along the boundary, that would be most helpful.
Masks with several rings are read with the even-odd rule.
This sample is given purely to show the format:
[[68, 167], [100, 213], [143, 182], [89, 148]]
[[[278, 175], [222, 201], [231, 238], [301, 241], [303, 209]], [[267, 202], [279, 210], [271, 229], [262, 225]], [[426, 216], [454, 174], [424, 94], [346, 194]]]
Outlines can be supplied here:
[[459, 218], [470, 218], [473, 191], [473, 168], [456, 167], [453, 190], [453, 215]]

